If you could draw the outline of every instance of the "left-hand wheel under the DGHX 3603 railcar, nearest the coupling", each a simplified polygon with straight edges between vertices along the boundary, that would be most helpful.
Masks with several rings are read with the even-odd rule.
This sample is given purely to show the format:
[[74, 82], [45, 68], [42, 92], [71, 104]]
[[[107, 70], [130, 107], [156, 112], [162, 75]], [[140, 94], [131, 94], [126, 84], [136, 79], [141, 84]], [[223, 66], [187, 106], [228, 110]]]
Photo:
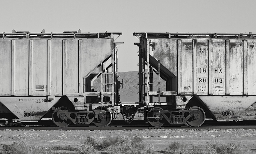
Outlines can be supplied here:
[[164, 117], [158, 111], [159, 107], [154, 107], [148, 112], [148, 114], [144, 114], [144, 116], [146, 116], [145, 119], [147, 119], [149, 125], [153, 127], [161, 127], [165, 123]]

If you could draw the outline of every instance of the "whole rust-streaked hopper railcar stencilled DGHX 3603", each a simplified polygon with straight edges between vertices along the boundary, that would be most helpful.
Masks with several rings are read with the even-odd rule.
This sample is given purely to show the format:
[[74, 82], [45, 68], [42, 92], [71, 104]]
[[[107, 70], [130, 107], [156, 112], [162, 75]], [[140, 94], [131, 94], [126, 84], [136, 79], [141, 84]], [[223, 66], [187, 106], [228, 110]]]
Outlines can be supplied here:
[[256, 119], [256, 34], [133, 35], [140, 40], [139, 104], [150, 125]]

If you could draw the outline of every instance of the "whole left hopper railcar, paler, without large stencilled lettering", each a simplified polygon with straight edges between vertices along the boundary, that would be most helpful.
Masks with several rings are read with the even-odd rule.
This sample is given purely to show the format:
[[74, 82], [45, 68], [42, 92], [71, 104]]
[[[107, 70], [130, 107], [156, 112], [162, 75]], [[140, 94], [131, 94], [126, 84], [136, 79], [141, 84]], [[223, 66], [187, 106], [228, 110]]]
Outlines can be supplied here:
[[114, 35], [122, 33], [1, 33], [0, 118], [107, 126], [120, 103]]

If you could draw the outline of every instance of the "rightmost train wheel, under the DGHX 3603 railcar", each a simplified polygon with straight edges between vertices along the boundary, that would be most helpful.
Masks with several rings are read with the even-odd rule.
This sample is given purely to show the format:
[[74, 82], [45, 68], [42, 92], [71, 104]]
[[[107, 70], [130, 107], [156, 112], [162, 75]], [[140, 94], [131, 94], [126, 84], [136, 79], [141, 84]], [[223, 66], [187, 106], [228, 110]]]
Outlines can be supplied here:
[[198, 111], [200, 111], [199, 113], [195, 113], [192, 117], [190, 117], [188, 119], [188, 121], [185, 123], [185, 125], [187, 126], [192, 126], [192, 127], [199, 127], [201, 126], [204, 121], [205, 121], [205, 113], [204, 113], [204, 110], [201, 109], [200, 107], [197, 107], [197, 106], [193, 106], [193, 107], [190, 107], [189, 110], [192, 110], [192, 109], [196, 109]]

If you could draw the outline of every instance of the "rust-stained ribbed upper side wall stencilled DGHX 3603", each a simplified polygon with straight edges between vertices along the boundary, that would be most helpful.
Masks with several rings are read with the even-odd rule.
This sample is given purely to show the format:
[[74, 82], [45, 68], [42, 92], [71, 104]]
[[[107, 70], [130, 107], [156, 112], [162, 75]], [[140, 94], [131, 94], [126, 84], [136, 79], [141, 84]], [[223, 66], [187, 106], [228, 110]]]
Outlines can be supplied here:
[[153, 58], [177, 76], [178, 94], [256, 95], [255, 40], [148, 40]]

